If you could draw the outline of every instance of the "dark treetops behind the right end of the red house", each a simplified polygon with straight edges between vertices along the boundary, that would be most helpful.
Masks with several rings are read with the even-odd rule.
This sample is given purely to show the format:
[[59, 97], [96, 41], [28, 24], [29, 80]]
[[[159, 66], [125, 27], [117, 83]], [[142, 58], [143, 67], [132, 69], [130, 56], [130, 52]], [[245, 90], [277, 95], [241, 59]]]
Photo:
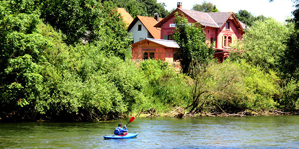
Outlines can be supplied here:
[[239, 10], [238, 13], [235, 13], [237, 19], [248, 26], [252, 26], [255, 21], [266, 20], [267, 18], [264, 15], [254, 16], [247, 10]]

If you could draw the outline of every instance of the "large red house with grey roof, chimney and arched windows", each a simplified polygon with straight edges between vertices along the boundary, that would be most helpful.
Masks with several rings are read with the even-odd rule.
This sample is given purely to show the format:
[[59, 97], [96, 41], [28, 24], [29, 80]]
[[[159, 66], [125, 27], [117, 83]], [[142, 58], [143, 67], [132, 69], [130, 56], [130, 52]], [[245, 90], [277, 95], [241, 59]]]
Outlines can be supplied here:
[[228, 57], [230, 44], [242, 39], [246, 25], [240, 22], [233, 12], [200, 12], [183, 9], [181, 2], [169, 15], [159, 21], [154, 27], [161, 28], [161, 39], [170, 40], [175, 28], [175, 13], [184, 14], [190, 23], [198, 22], [206, 33], [206, 43], [215, 42], [216, 52], [214, 56], [220, 62]]

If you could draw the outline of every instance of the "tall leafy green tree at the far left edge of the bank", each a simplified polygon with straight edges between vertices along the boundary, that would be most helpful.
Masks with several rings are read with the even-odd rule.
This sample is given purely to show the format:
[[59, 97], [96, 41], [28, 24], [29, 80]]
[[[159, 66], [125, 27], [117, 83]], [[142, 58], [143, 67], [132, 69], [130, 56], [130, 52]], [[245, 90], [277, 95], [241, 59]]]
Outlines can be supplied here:
[[36, 32], [40, 20], [29, 8], [32, 1], [14, 4], [0, 1], [0, 109], [26, 115], [42, 89], [38, 63], [48, 44]]

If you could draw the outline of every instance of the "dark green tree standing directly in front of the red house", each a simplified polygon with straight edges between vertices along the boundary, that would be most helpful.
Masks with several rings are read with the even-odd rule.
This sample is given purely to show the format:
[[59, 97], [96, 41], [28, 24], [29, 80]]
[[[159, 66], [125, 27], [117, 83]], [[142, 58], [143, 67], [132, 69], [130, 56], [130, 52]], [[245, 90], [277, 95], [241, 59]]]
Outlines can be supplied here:
[[190, 73], [191, 63], [206, 63], [212, 59], [214, 49], [205, 41], [206, 36], [200, 24], [190, 24], [184, 15], [175, 14], [176, 24], [173, 40], [179, 45], [178, 55], [184, 74]]

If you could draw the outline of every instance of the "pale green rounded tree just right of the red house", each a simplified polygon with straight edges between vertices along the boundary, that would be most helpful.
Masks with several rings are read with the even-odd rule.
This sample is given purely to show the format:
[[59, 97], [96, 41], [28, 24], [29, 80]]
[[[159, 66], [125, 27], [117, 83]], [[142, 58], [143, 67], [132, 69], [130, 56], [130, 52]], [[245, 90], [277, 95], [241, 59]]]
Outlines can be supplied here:
[[244, 53], [240, 58], [249, 64], [259, 66], [264, 71], [278, 71], [289, 31], [287, 26], [273, 18], [259, 20], [245, 32], [243, 39], [234, 48], [242, 49]]

